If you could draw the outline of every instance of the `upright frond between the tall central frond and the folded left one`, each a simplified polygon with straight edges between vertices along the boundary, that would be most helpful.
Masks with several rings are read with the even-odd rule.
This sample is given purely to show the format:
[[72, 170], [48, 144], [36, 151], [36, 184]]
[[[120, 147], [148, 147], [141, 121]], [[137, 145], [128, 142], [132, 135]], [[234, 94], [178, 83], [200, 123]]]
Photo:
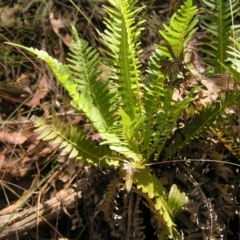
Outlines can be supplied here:
[[100, 80], [101, 72], [97, 69], [101, 65], [99, 54], [83, 39], [79, 39], [78, 33], [72, 27], [73, 41], [68, 57], [68, 64], [72, 79], [82, 90], [88, 84], [93, 104], [99, 110], [101, 117], [108, 127], [116, 121], [117, 94], [112, 93], [109, 81]]

